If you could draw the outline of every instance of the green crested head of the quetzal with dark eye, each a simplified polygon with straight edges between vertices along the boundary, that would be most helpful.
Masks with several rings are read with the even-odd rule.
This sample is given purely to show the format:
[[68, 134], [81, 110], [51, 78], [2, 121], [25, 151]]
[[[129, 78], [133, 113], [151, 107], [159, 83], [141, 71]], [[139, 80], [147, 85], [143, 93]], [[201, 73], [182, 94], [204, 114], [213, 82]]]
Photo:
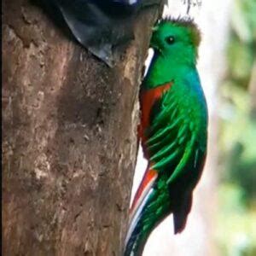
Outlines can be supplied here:
[[200, 41], [201, 34], [193, 20], [167, 18], [154, 26], [150, 47], [177, 63], [195, 63]]

